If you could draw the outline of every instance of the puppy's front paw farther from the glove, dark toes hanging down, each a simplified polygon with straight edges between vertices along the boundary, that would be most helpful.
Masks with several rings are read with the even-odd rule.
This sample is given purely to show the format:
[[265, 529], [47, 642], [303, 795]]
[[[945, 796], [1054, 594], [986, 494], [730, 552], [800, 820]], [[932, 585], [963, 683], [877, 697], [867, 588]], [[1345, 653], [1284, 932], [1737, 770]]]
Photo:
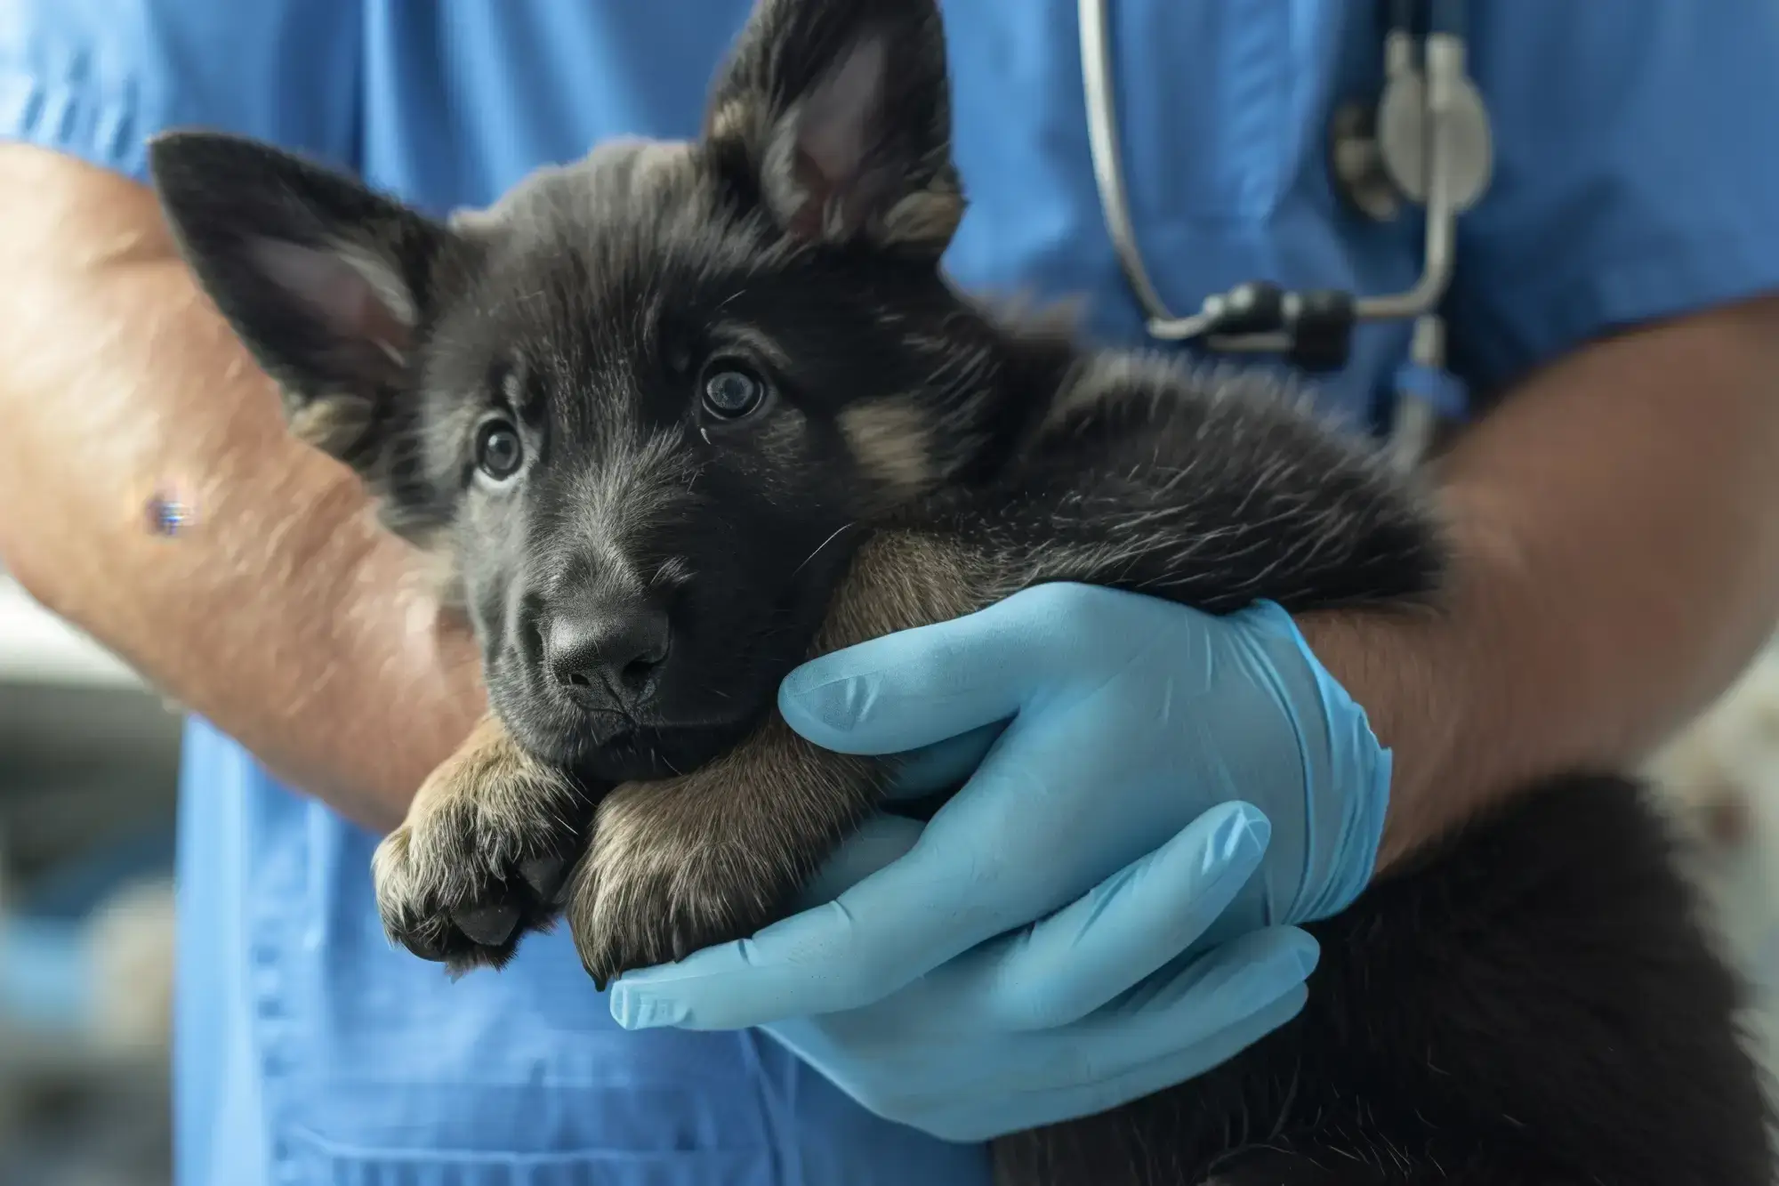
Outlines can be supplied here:
[[527, 931], [550, 926], [591, 816], [589, 794], [486, 719], [377, 846], [384, 930], [454, 974], [500, 967]]

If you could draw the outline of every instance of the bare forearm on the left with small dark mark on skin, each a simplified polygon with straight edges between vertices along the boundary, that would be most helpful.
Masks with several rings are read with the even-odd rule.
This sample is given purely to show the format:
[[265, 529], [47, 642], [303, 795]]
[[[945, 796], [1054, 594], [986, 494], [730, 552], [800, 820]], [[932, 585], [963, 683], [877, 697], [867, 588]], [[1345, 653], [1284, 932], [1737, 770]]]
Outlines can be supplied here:
[[[0, 559], [50, 609], [372, 828], [484, 707], [471, 641], [358, 481], [299, 443], [146, 187], [0, 144]], [[192, 529], [146, 529], [160, 488]]]

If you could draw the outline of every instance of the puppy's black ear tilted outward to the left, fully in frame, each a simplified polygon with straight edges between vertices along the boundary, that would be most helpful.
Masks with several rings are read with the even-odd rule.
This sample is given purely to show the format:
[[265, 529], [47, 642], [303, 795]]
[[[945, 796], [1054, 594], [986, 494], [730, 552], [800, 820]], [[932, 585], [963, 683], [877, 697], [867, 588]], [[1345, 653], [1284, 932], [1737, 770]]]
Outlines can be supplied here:
[[450, 232], [235, 135], [169, 132], [148, 160], [180, 253], [283, 386], [292, 429], [374, 475]]

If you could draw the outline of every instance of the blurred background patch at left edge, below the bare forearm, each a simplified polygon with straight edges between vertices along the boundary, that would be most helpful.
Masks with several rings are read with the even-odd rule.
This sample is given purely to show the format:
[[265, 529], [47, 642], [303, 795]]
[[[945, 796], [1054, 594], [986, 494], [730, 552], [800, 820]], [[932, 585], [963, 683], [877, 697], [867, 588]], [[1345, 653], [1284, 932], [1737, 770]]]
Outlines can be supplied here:
[[171, 1175], [180, 718], [0, 573], [0, 1186]]

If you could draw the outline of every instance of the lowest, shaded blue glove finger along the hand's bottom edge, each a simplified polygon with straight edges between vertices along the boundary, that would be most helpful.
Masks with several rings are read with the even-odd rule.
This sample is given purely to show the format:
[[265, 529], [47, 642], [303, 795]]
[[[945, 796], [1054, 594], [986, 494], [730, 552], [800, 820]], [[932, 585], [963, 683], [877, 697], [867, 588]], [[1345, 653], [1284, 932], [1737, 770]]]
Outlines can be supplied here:
[[[987, 1141], [996, 1136], [1092, 1117], [1130, 1104], [1146, 1095], [1195, 1079], [1229, 1061], [1274, 1029], [1302, 1011], [1309, 994], [1302, 981], [1281, 994], [1258, 1001], [1256, 1008], [1238, 1022], [1187, 1045], [1155, 1056], [1156, 1049], [1171, 1045], [1165, 1028], [1137, 1026], [1133, 1040], [1123, 1044], [1121, 1056], [1147, 1045], [1149, 1058], [1107, 1060], [1099, 1065], [1103, 1077], [1069, 1086], [1018, 1092], [1010, 1097], [945, 1095], [945, 1106], [918, 1117], [902, 1117], [906, 1124], [925, 1129], [939, 1140]], [[1099, 1061], [1099, 1060], [1096, 1060]], [[964, 1101], [959, 1104], [959, 1101]]]

